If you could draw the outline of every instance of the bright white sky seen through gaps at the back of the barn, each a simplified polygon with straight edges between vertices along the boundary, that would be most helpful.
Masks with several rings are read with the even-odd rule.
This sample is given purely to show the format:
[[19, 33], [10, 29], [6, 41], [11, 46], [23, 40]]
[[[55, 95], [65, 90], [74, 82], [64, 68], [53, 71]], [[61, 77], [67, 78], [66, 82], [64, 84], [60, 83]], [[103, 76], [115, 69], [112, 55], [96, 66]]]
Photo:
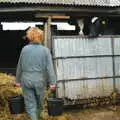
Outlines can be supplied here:
[[[33, 27], [36, 24], [42, 25], [41, 22], [2, 22], [3, 30], [25, 30], [28, 27]], [[53, 25], [57, 24], [58, 30], [75, 30], [75, 26], [69, 25], [68, 23], [52, 23]]]

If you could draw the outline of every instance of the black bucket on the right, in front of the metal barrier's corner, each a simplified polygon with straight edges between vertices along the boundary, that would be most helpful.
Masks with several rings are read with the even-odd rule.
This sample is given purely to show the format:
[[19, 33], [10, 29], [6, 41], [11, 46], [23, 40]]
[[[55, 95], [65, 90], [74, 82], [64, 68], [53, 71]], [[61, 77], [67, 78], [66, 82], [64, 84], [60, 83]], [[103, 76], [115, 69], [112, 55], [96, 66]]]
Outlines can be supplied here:
[[62, 98], [48, 98], [48, 114], [49, 116], [59, 116], [63, 112]]

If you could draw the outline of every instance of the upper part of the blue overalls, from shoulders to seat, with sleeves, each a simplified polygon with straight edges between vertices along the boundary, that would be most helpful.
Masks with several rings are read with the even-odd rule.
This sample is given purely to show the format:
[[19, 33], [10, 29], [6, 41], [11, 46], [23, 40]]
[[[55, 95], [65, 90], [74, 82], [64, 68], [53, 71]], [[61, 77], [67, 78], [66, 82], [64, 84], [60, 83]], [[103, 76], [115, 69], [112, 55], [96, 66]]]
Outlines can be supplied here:
[[44, 86], [47, 80], [50, 84], [56, 82], [49, 49], [37, 43], [26, 45], [19, 57], [16, 82], [29, 87], [32, 84]]

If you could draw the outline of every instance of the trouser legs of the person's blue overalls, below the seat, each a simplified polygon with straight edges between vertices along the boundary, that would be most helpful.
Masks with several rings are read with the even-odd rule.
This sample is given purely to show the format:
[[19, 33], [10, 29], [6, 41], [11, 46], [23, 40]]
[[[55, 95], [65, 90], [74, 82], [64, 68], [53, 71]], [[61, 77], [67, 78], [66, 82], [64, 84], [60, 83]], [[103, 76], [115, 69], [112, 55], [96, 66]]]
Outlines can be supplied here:
[[43, 106], [44, 88], [39, 86], [33, 88], [22, 86], [22, 89], [28, 115], [31, 120], [39, 120], [40, 111]]

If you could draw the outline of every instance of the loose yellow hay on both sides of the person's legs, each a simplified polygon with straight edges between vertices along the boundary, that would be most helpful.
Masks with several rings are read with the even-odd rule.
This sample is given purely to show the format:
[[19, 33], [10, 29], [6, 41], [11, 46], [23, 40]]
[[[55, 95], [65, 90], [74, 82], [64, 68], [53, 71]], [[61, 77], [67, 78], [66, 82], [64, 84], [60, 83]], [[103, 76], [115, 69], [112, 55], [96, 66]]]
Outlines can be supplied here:
[[[22, 120], [30, 120], [28, 115], [26, 113], [19, 114], [19, 115], [11, 115], [9, 108], [8, 108], [8, 97], [15, 96], [15, 95], [21, 95], [22, 89], [18, 87], [14, 87], [15, 82], [15, 76], [0, 73], [0, 120], [12, 120], [12, 119], [21, 119]], [[47, 99], [48, 97], [53, 97], [53, 93], [51, 89], [47, 89], [45, 91], [44, 96], [44, 105], [43, 105], [43, 111], [41, 112], [41, 118], [43, 120], [69, 120], [67, 115], [61, 115], [52, 117], [48, 115], [47, 110]]]

